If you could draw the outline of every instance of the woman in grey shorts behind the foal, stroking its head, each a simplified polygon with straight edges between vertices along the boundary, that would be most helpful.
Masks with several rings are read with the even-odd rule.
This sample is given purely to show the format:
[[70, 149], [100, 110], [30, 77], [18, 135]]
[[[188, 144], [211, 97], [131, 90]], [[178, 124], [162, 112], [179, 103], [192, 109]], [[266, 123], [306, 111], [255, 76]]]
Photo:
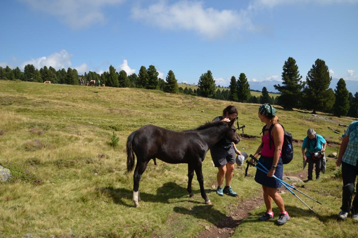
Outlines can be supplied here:
[[[234, 106], [227, 106], [223, 110], [222, 116], [217, 116], [213, 119], [213, 122], [218, 121], [231, 121], [237, 117], [237, 109]], [[241, 155], [241, 152], [236, 148], [235, 143], [222, 138], [210, 149], [211, 157], [214, 162], [214, 166], [218, 168], [216, 175], [218, 187], [216, 193], [219, 196], [228, 194], [236, 197], [237, 193], [231, 189], [231, 179], [234, 174], [236, 155]], [[223, 188], [223, 181], [225, 177], [225, 187]]]

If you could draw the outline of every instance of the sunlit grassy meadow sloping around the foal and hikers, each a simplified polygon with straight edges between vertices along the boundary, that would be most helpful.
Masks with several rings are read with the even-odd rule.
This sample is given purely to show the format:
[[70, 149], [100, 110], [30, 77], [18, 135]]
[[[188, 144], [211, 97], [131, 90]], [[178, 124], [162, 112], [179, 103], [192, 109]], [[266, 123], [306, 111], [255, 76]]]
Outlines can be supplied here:
[[[187, 165], [150, 161], [140, 182], [140, 207], [132, 202], [133, 172], [126, 173], [127, 136], [146, 124], [183, 131], [221, 115], [229, 104], [238, 108], [245, 134], [259, 136], [262, 123], [255, 104], [219, 101], [189, 95], [171, 95], [157, 90], [56, 85], [0, 81], [0, 165], [13, 178], [0, 183], [0, 237], [196, 237], [205, 226], [217, 224], [237, 204], [261, 194], [245, 168], [234, 171], [232, 187], [237, 197], [216, 195], [216, 173], [210, 153], [203, 162], [204, 186], [213, 205], [200, 196], [196, 176], [194, 197], [189, 198]], [[328, 141], [354, 118], [315, 118], [299, 110], [277, 107], [285, 129], [303, 140], [308, 128]], [[118, 147], [109, 142], [113, 131]], [[243, 138], [237, 148], [256, 151], [260, 138]], [[173, 145], [175, 146], [175, 145]], [[284, 172], [302, 169], [300, 144]], [[337, 152], [329, 144], [327, 155]], [[302, 184], [301, 191], [323, 206], [299, 195], [319, 215], [309, 212], [292, 194], [284, 193], [291, 219], [280, 229], [273, 221], [260, 223], [260, 208], [251, 211], [232, 237], [358, 237], [353, 219], [338, 222], [342, 182], [335, 160], [327, 161], [321, 179]], [[306, 168], [307, 169], [307, 168]], [[251, 174], [255, 168], [250, 168]], [[278, 214], [274, 205], [274, 212]], [[275, 220], [277, 216], [275, 215]]]

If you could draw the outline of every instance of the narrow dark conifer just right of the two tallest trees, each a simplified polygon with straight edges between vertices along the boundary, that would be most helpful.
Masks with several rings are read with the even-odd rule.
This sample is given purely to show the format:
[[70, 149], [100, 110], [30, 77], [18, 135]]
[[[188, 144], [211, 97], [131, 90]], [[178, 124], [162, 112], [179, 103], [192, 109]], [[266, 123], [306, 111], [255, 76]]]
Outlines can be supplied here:
[[335, 116], [345, 116], [349, 110], [348, 90], [345, 86], [344, 79], [340, 79], [337, 83], [335, 92], [335, 103], [333, 111]]

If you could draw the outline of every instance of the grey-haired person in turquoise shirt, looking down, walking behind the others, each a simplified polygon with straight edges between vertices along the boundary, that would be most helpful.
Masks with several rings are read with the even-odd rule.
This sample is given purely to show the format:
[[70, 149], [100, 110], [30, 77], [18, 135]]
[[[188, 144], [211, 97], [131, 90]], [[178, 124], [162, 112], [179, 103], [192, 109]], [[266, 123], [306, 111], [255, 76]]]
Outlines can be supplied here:
[[[321, 135], [316, 134], [315, 130], [309, 128], [307, 136], [302, 143], [303, 161], [308, 163], [308, 180], [312, 180], [313, 164], [316, 167], [316, 179], [320, 179], [321, 171], [325, 172], [325, 151], [327, 142]], [[305, 151], [305, 149], [307, 150]], [[324, 166], [322, 166], [322, 164]], [[304, 164], [305, 167], [305, 164]]]

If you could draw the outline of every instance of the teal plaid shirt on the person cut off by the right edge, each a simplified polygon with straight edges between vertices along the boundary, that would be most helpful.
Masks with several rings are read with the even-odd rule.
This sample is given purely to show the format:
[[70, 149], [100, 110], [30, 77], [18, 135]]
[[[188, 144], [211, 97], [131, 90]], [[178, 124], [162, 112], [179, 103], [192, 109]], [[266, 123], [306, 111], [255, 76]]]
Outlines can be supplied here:
[[349, 142], [342, 161], [355, 166], [358, 159], [358, 121], [349, 124], [344, 136], [349, 137]]

